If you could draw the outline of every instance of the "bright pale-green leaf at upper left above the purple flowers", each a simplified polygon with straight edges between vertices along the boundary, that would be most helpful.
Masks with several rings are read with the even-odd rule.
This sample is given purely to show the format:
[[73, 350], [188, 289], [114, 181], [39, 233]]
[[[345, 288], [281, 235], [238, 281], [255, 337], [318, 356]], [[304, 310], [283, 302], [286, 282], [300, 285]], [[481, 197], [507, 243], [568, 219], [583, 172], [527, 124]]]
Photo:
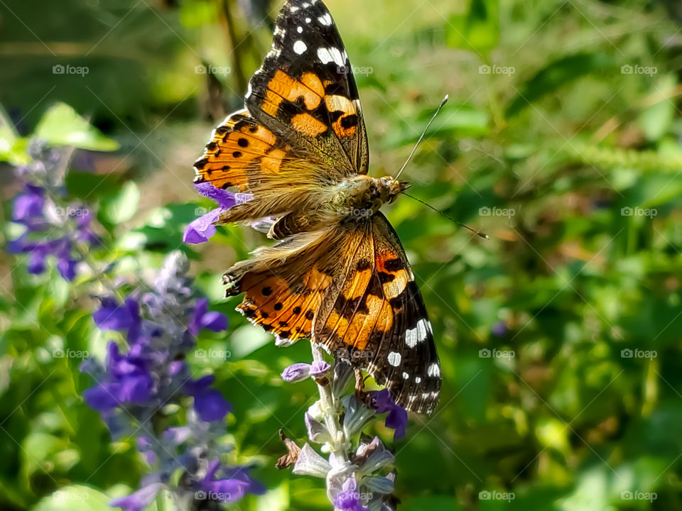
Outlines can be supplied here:
[[90, 126], [70, 106], [64, 103], [50, 107], [40, 119], [34, 135], [52, 145], [72, 145], [79, 149], [110, 151], [119, 144]]

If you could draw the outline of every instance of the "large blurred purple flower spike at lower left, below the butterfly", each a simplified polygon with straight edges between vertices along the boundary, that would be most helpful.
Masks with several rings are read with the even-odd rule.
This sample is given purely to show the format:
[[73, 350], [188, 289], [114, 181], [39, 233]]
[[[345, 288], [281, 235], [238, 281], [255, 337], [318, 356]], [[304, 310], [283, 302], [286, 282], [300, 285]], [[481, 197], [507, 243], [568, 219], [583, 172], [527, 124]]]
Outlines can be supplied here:
[[[100, 329], [125, 332], [129, 348], [121, 353], [110, 341], [104, 366], [92, 359], [82, 364], [98, 383], [84, 392], [85, 400], [102, 414], [114, 439], [137, 436], [139, 451], [155, 468], [138, 491], [112, 502], [126, 511], [144, 509], [161, 490], [183, 510], [208, 509], [208, 501], [233, 502], [261, 490], [247, 468], [220, 461], [230, 450], [218, 441], [229, 403], [210, 388], [212, 375], [193, 379], [185, 362], [201, 329], [227, 329], [227, 317], [207, 312], [207, 300], [195, 297], [188, 270], [187, 258], [171, 253], [154, 282], [141, 283], [146, 292], [133, 292], [123, 303], [102, 297], [94, 313]], [[178, 415], [188, 398], [193, 410], [186, 423], [168, 427], [182, 424]]]

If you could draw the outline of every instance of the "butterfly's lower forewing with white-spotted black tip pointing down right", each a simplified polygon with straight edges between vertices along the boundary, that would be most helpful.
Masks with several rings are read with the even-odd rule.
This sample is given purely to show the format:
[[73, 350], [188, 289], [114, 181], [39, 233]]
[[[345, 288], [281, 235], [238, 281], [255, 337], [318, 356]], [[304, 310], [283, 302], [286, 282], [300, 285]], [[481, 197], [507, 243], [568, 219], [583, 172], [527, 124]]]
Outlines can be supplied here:
[[386, 217], [359, 224], [362, 243], [347, 253], [347, 274], [315, 317], [313, 341], [385, 385], [399, 405], [431, 413], [440, 396], [440, 361], [421, 293]]

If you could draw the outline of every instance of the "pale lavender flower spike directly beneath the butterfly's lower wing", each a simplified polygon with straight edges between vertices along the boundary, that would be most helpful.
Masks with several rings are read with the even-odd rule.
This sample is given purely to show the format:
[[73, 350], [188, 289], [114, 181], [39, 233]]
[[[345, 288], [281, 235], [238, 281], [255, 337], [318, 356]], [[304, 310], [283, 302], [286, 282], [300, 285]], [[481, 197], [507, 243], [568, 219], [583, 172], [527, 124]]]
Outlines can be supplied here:
[[407, 412], [393, 402], [387, 390], [348, 394], [355, 374], [352, 366], [339, 359], [332, 368], [322, 350], [311, 346], [313, 363], [293, 364], [284, 370], [282, 378], [288, 382], [312, 378], [318, 385], [320, 399], [305, 412], [305, 427], [308, 439], [321, 444], [320, 451], [328, 453], [329, 458], [306, 443], [293, 454], [293, 473], [325, 478], [327, 496], [336, 510], [394, 510], [396, 472], [386, 473], [394, 455], [378, 436], [372, 439], [362, 431], [377, 413], [388, 412], [386, 426], [396, 430], [394, 438], [404, 436]]

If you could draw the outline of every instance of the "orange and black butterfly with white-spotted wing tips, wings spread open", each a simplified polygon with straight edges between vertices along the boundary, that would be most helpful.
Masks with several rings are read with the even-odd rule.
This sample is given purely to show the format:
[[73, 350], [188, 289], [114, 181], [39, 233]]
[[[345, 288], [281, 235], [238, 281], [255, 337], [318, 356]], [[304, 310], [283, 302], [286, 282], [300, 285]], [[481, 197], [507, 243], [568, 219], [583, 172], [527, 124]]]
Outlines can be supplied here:
[[288, 0], [243, 110], [212, 134], [196, 184], [251, 199], [217, 224], [271, 219], [274, 246], [224, 275], [237, 309], [286, 346], [310, 339], [367, 370], [413, 412], [433, 411], [440, 362], [396, 232], [379, 208], [408, 183], [370, 177], [352, 67], [321, 0]]

